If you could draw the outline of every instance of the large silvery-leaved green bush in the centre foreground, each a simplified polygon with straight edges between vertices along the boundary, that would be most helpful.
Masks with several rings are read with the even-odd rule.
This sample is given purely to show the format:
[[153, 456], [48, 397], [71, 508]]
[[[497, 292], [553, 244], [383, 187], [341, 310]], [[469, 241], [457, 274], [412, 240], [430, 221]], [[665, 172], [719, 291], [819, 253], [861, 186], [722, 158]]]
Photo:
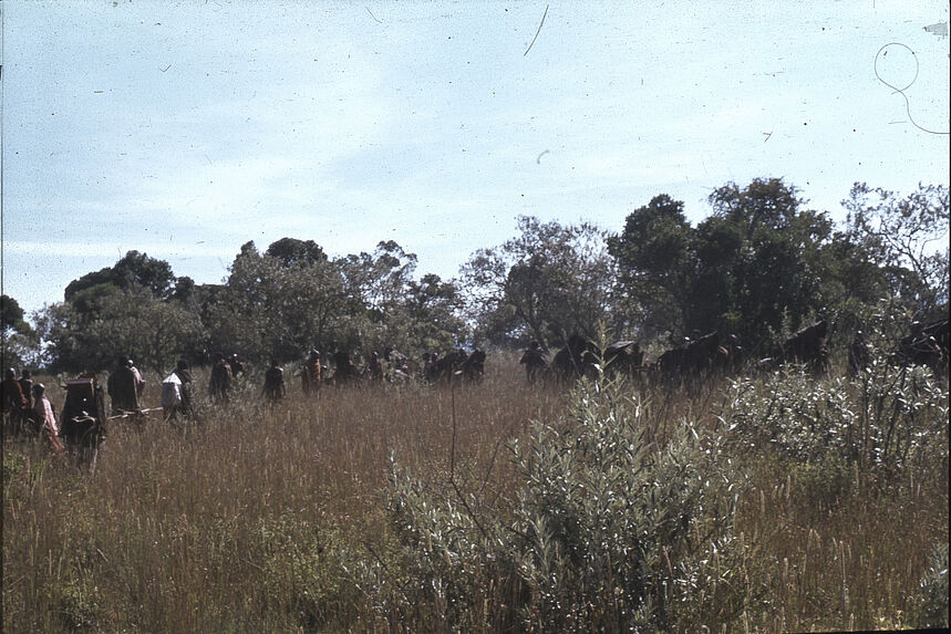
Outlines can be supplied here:
[[517, 484], [492, 509], [394, 466], [400, 574], [380, 579], [401, 592], [389, 600], [461, 630], [686, 630], [735, 616], [751, 596], [733, 532], [742, 472], [715, 434], [653, 432], [648, 404], [588, 385], [564, 418], [510, 445]]

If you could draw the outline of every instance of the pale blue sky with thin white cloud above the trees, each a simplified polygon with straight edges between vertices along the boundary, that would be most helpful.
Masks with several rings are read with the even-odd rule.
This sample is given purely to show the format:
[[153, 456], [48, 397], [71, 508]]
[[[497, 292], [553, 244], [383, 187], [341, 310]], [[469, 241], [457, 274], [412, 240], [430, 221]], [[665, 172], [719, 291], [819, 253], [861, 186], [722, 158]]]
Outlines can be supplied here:
[[[542, 15], [547, 15], [538, 31]], [[3, 292], [136, 249], [220, 282], [240, 245], [394, 239], [451, 278], [518, 215], [611, 231], [730, 180], [948, 184], [948, 2], [4, 0]], [[936, 32], [937, 31], [937, 32]], [[533, 38], [538, 38], [525, 54]], [[542, 154], [544, 153], [544, 154]]]

